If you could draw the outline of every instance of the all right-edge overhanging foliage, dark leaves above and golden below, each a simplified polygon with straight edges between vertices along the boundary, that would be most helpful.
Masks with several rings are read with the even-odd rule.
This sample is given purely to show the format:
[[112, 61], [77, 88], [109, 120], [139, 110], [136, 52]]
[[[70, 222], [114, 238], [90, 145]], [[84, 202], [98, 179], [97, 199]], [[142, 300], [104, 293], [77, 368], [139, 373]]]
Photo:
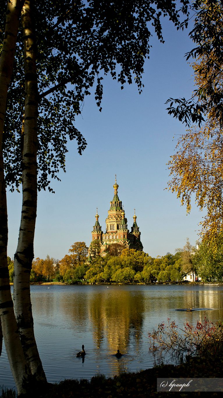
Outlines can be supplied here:
[[[176, 152], [169, 161], [171, 180], [169, 189], [177, 194], [187, 213], [191, 209], [191, 197], [204, 210], [201, 235], [213, 246], [223, 232], [223, 3], [203, 1], [196, 15], [191, 37], [197, 47], [188, 57], [192, 63], [196, 90], [191, 102], [197, 111], [191, 115], [188, 105], [172, 109], [176, 117], [189, 124], [204, 120], [202, 127], [192, 126], [178, 138]], [[172, 101], [173, 105], [173, 101]], [[181, 113], [180, 113], [181, 112]], [[181, 116], [184, 114], [183, 119]], [[202, 116], [203, 115], [203, 116]], [[200, 119], [199, 119], [200, 118]]]

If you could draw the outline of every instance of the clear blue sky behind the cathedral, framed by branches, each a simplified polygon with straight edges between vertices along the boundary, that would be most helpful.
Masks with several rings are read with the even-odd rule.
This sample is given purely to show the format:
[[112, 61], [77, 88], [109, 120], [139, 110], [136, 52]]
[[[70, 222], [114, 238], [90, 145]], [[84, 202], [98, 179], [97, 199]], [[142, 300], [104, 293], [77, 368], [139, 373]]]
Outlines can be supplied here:
[[[196, 205], [190, 215], [168, 190], [166, 163], [173, 154], [176, 139], [185, 126], [169, 116], [165, 101], [169, 97], [190, 98], [194, 81], [192, 68], [184, 54], [193, 47], [188, 30], [177, 32], [164, 22], [165, 44], [152, 39], [150, 59], [145, 62], [143, 93], [137, 86], [120, 84], [105, 77], [102, 112], [94, 96], [85, 99], [76, 127], [87, 140], [87, 148], [78, 155], [76, 142], [69, 142], [66, 174], [61, 182], [52, 182], [55, 194], [39, 193], [35, 231], [35, 258], [47, 254], [61, 259], [76, 241], [91, 242], [96, 207], [105, 231], [109, 202], [113, 198], [114, 175], [119, 185], [128, 228], [134, 208], [144, 251], [156, 257], [198, 239], [202, 213]], [[16, 251], [21, 194], [8, 193], [8, 255]]]

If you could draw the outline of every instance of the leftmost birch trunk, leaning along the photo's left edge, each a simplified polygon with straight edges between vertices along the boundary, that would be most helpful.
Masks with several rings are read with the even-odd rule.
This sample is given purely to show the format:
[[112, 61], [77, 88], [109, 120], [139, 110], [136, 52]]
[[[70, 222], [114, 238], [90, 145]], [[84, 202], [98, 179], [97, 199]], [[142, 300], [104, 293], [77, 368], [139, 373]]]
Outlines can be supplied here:
[[19, 10], [19, 6], [21, 6], [21, 3], [23, 2], [20, 0], [11, 0], [8, 2], [6, 29], [0, 58], [0, 322], [10, 367], [16, 382], [18, 394], [20, 395], [25, 393], [23, 382], [29, 376], [29, 369], [19, 339], [9, 283], [7, 263], [8, 219], [2, 157], [2, 138], [6, 99], [12, 76], [21, 13], [21, 8]]

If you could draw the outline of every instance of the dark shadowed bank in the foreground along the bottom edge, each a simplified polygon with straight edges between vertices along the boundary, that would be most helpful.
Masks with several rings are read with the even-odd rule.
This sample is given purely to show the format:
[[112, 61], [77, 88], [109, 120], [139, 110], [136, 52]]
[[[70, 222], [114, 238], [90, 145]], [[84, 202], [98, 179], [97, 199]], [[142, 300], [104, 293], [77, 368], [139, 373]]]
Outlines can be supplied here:
[[[95, 376], [90, 381], [64, 380], [50, 384], [48, 391], [32, 392], [30, 398], [122, 398], [122, 397], [222, 397], [223, 392], [157, 392], [157, 378], [223, 378], [223, 353], [204, 358], [190, 358], [181, 365], [160, 365], [140, 373], [122, 373], [106, 378]], [[223, 387], [223, 384], [222, 384]], [[4, 395], [11, 398], [12, 392]]]

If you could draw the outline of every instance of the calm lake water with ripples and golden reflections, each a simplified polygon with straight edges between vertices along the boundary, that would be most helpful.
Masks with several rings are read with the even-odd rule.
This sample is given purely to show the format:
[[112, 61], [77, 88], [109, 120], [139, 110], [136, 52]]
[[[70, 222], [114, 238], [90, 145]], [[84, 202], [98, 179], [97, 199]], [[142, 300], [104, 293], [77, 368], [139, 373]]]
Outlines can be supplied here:
[[[178, 326], [223, 320], [223, 285], [31, 286], [35, 336], [49, 382], [113, 376], [153, 367], [147, 332], [167, 318]], [[179, 308], [211, 308], [193, 312]], [[86, 356], [76, 358], [84, 344]], [[114, 356], [117, 349], [124, 354]], [[14, 387], [3, 347], [0, 386]]]

